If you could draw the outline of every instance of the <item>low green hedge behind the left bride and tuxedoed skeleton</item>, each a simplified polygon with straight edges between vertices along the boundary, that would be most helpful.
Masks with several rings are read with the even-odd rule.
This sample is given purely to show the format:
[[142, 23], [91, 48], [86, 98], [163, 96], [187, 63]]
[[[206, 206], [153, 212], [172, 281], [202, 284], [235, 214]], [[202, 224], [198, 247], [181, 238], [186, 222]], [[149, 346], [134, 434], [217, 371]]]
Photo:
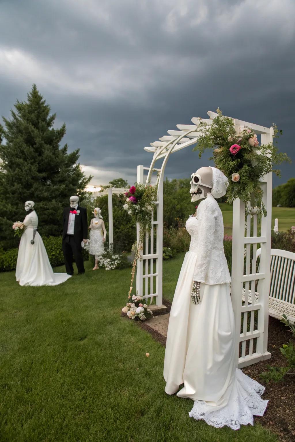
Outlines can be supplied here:
[[[46, 252], [52, 267], [61, 266], [65, 263], [64, 255], [61, 249], [61, 236], [42, 237]], [[0, 271], [9, 271], [16, 269], [17, 254], [19, 249], [9, 250], [0, 249]], [[84, 261], [88, 261], [88, 252], [82, 250]]]

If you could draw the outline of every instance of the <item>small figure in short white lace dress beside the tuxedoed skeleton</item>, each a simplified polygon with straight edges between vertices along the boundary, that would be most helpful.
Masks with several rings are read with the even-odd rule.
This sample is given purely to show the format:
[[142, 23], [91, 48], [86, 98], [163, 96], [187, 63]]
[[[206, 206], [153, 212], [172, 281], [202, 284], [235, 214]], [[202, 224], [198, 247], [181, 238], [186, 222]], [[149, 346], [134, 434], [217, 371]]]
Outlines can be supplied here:
[[103, 243], [106, 240], [107, 231], [103, 222], [103, 217], [101, 216], [101, 210], [96, 207], [93, 211], [95, 218], [90, 221], [90, 233], [89, 233], [89, 253], [95, 257], [95, 266], [92, 270], [97, 270], [99, 268], [98, 263], [101, 255], [104, 252]]

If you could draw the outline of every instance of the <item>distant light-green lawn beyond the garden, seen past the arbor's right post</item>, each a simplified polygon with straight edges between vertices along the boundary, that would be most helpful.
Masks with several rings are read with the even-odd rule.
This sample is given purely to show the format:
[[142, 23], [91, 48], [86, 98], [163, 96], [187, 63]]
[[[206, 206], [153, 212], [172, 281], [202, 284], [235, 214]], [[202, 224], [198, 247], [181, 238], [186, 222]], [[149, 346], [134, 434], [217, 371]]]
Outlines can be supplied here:
[[[219, 204], [224, 223], [224, 233], [227, 235], [232, 234], [233, 225], [233, 206], [226, 203]], [[294, 207], [272, 207], [272, 229], [275, 225], [275, 218], [279, 220], [279, 231], [286, 232], [291, 229], [292, 225], [295, 225], [295, 208]]]

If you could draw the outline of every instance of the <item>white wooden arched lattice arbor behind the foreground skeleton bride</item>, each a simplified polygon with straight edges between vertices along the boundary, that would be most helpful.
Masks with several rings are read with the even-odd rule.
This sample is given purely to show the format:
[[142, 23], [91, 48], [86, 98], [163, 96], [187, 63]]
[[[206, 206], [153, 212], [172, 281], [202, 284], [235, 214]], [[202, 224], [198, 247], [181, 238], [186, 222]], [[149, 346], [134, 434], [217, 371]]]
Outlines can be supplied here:
[[[153, 214], [153, 227], [143, 244], [142, 259], [138, 260], [136, 286], [138, 294], [146, 297], [147, 302], [156, 299], [157, 305], [162, 305], [162, 255], [163, 255], [163, 182], [166, 164], [169, 156], [180, 149], [196, 144], [200, 133], [200, 122], [208, 125], [217, 116], [215, 112], [207, 112], [210, 119], [192, 118], [192, 125], [176, 125], [178, 130], [168, 130], [168, 135], [159, 141], [150, 143], [144, 149], [153, 153], [149, 168], [138, 166], [138, 183], [148, 184], [153, 174], [158, 177], [158, 192], [156, 213]], [[239, 126], [252, 128], [261, 136], [261, 144], [272, 142], [273, 129], [232, 118], [235, 129]], [[160, 168], [155, 168], [157, 160], [163, 160]], [[188, 170], [188, 176], [197, 169]], [[145, 172], [147, 171], [147, 176]], [[236, 325], [236, 354], [237, 366], [245, 367], [262, 359], [268, 359], [271, 354], [267, 351], [268, 343], [268, 295], [270, 280], [270, 249], [271, 249], [271, 216], [272, 216], [272, 173], [265, 175], [261, 181], [263, 202], [268, 211], [261, 219], [261, 232], [257, 215], [248, 215], [245, 224], [245, 203], [240, 199], [234, 201], [233, 207], [233, 247], [232, 247], [232, 304]], [[189, 191], [189, 189], [188, 189]], [[249, 208], [249, 207], [248, 207]], [[139, 226], [137, 225], [139, 240]], [[256, 270], [257, 244], [261, 247], [259, 272]], [[244, 254], [244, 249], [246, 253]], [[245, 256], [244, 256], [245, 255]], [[259, 293], [257, 302], [248, 302], [249, 290]], [[244, 289], [244, 290], [243, 290]], [[243, 291], [245, 293], [242, 300]]]

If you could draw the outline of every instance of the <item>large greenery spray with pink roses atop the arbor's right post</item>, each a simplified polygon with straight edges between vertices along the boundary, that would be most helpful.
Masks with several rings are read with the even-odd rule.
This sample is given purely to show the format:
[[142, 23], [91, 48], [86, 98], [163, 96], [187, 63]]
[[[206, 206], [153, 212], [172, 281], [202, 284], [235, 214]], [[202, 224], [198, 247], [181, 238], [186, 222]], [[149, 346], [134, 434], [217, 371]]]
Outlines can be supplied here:
[[[255, 213], [263, 213], [265, 216], [260, 186], [262, 176], [271, 171], [280, 176], [280, 170], [273, 169], [272, 165], [290, 159], [286, 153], [279, 152], [276, 142], [260, 145], [253, 129], [240, 126], [236, 132], [232, 118], [223, 116], [219, 108], [217, 113], [218, 116], [211, 125], [200, 123], [201, 135], [193, 150], [199, 151], [201, 157], [205, 149], [213, 148], [210, 159], [215, 161], [216, 167], [229, 179], [228, 202], [232, 203], [236, 198], [245, 203], [251, 202]], [[282, 134], [276, 125], [272, 127], [274, 138]]]

